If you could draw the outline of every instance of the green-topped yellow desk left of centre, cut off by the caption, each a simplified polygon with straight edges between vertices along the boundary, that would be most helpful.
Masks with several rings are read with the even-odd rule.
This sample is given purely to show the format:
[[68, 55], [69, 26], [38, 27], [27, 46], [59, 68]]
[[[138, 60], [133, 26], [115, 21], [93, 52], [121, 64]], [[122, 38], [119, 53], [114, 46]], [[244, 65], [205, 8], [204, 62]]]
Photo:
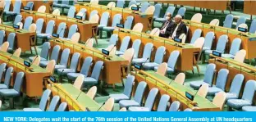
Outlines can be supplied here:
[[[88, 107], [90, 111], [98, 111], [100, 108], [97, 102], [72, 84], [54, 84], [50, 82], [47, 88], [53, 92], [53, 96], [61, 97], [62, 102], [67, 103], [69, 110], [85, 111], [85, 107]], [[101, 108], [99, 111], [105, 110]]]

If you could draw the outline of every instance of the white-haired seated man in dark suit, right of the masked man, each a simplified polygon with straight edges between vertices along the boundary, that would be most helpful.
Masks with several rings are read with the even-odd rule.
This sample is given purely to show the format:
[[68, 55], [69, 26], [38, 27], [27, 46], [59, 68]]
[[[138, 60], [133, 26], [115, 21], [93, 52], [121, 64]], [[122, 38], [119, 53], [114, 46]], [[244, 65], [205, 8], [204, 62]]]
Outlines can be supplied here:
[[185, 23], [182, 21], [182, 16], [176, 15], [175, 18], [175, 24], [171, 28], [171, 34], [169, 38], [179, 38], [181, 34], [186, 34], [187, 28]]

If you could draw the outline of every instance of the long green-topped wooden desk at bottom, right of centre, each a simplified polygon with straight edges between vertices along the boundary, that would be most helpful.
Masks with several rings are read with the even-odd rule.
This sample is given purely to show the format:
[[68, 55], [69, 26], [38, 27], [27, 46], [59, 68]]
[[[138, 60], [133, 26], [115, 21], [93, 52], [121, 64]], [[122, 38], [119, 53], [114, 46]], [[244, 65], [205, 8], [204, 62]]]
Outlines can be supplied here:
[[[181, 102], [181, 111], [184, 111], [186, 108], [190, 108], [193, 111], [220, 111], [220, 108], [210, 102], [208, 99], [204, 97], [200, 97], [196, 95], [194, 97], [194, 101], [190, 101], [187, 97], [185, 97], [185, 92], [189, 92], [195, 94], [196, 92], [192, 88], [185, 87], [184, 85], [177, 84], [173, 82], [172, 79], [169, 79], [165, 76], [158, 75], [153, 70], [143, 71], [139, 70], [138, 72], [131, 72], [131, 75], [135, 75], [135, 87], [141, 81], [145, 81], [148, 84], [149, 91], [152, 88], [158, 88], [159, 94], [157, 97], [157, 104], [160, 100], [160, 97], [163, 94], [167, 94], [171, 97], [171, 102], [179, 101]], [[172, 81], [172, 82], [171, 82]], [[145, 93], [149, 93], [149, 92]], [[197, 107], [194, 106], [194, 103], [197, 103]]]

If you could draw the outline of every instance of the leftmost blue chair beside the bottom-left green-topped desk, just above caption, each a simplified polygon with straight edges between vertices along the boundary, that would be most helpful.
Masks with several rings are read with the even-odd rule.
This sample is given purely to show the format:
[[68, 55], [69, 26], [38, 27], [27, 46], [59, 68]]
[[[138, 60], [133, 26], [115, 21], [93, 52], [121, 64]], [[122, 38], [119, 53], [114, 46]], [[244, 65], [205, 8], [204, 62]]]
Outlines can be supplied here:
[[52, 91], [49, 89], [46, 89], [43, 92], [43, 95], [41, 97], [41, 100], [39, 102], [39, 107], [37, 108], [24, 108], [23, 111], [45, 111], [46, 107], [48, 105], [48, 98], [50, 97]]

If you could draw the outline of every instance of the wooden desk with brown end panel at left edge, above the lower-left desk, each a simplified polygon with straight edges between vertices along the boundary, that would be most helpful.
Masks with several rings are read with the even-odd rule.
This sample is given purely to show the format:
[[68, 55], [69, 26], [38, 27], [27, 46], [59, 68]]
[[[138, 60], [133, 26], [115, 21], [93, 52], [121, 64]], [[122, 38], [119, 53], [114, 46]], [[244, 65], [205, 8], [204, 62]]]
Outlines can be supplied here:
[[21, 47], [21, 52], [31, 51], [30, 36], [34, 35], [34, 33], [30, 33], [30, 31], [26, 29], [15, 29], [8, 25], [0, 25], [0, 30], [5, 30], [6, 38], [10, 33], [16, 34], [15, 44], [16, 47]]

